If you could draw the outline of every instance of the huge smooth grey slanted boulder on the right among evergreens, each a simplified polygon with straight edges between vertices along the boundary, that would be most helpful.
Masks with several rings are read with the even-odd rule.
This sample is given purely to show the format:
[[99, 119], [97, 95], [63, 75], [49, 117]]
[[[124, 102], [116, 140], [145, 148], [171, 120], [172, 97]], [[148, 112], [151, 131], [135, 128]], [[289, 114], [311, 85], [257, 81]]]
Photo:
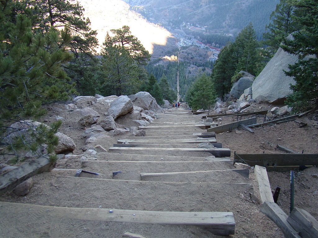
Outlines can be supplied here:
[[[289, 35], [287, 39], [292, 39]], [[256, 102], [280, 103], [293, 91], [290, 84], [295, 84], [294, 78], [285, 75], [288, 65], [298, 61], [298, 56], [279, 48], [274, 57], [256, 77], [252, 84], [253, 99]]]

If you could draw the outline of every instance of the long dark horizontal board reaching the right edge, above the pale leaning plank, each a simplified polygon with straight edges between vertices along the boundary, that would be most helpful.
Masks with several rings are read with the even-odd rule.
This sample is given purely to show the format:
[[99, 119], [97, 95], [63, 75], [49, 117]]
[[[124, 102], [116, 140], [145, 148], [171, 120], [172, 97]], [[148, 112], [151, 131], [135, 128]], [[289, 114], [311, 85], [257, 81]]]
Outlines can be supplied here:
[[318, 165], [318, 154], [234, 154], [235, 162], [263, 167]]

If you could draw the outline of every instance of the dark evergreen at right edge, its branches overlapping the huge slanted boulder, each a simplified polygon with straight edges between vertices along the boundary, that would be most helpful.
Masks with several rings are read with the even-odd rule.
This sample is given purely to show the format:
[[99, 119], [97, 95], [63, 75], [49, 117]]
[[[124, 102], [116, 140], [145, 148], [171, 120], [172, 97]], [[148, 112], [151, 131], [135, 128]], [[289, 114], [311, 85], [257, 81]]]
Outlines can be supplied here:
[[316, 0], [298, 0], [294, 6], [294, 21], [301, 25], [301, 30], [282, 45], [285, 51], [299, 57], [286, 72], [296, 81], [290, 87], [293, 94], [287, 102], [294, 109], [306, 110], [318, 107], [318, 5]]

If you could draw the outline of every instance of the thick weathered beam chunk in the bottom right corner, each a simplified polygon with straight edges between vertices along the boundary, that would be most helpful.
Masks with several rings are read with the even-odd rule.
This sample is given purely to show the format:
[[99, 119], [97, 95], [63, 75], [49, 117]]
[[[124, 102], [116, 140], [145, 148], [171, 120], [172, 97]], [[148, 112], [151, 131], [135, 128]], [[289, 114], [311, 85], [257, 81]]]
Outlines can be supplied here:
[[294, 208], [287, 222], [302, 238], [318, 238], [318, 221], [306, 210]]

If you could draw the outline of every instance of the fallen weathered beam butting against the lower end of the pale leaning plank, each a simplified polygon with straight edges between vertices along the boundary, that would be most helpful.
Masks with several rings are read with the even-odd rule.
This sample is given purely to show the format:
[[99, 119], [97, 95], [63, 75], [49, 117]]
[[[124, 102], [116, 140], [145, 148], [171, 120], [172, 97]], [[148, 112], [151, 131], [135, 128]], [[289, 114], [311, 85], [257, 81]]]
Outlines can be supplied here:
[[275, 202], [264, 202], [260, 211], [275, 222], [286, 238], [301, 238], [295, 229], [287, 222], [286, 213]]

